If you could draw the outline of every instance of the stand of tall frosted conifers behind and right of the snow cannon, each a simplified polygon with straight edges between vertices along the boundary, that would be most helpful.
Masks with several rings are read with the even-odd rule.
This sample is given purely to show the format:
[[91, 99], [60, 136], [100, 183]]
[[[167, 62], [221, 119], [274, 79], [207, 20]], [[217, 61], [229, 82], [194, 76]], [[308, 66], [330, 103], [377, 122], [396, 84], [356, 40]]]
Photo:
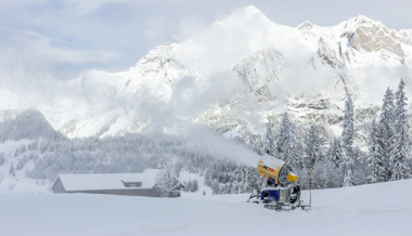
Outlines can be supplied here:
[[[343, 132], [329, 145], [319, 135], [320, 126], [311, 123], [304, 142], [299, 143], [296, 126], [284, 113], [278, 130], [267, 122], [265, 152], [287, 161], [301, 176], [299, 183], [308, 187], [310, 172], [316, 188], [351, 186], [411, 178], [410, 139], [407, 115], [405, 83], [400, 80], [397, 92], [388, 88], [383, 99], [382, 113], [372, 121], [369, 152], [353, 146], [353, 102], [345, 102]], [[378, 121], [376, 121], [378, 119]]]

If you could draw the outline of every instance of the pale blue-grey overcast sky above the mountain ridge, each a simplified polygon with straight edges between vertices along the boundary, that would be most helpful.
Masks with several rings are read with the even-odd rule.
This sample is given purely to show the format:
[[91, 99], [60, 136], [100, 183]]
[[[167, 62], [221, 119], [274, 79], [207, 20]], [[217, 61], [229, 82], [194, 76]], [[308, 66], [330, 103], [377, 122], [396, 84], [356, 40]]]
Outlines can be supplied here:
[[0, 81], [125, 70], [154, 45], [179, 42], [249, 4], [293, 27], [362, 14], [389, 28], [412, 28], [407, 0], [0, 0]]

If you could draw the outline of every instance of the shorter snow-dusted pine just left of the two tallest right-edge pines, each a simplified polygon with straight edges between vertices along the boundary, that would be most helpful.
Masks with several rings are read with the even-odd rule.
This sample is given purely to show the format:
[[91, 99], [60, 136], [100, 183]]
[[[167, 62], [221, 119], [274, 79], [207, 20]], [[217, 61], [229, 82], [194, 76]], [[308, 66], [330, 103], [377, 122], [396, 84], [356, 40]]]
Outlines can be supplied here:
[[387, 170], [383, 160], [383, 149], [379, 142], [381, 128], [375, 119], [372, 121], [371, 133], [369, 136], [368, 167], [370, 170], [369, 179], [372, 183], [384, 182], [387, 178]]

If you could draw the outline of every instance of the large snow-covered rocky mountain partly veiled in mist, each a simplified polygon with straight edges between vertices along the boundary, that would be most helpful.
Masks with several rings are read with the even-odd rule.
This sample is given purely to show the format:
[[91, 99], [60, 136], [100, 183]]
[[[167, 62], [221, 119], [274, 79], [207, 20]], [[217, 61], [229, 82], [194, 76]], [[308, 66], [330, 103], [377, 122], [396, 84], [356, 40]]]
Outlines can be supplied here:
[[0, 108], [39, 109], [68, 137], [178, 132], [194, 122], [247, 143], [286, 110], [299, 123], [314, 120], [339, 134], [348, 94], [358, 124], [369, 122], [387, 87], [412, 81], [411, 69], [412, 30], [365, 16], [294, 28], [247, 6], [180, 43], [154, 48], [127, 71], [89, 71], [54, 82], [36, 104], [20, 97]]

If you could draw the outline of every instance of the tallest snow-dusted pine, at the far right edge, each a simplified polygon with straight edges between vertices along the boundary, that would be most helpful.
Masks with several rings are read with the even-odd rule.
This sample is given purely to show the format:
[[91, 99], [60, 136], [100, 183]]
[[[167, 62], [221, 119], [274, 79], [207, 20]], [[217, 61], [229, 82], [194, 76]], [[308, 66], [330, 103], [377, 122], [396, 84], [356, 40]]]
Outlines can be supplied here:
[[408, 166], [407, 159], [409, 156], [409, 136], [408, 136], [408, 116], [407, 116], [407, 101], [408, 97], [403, 91], [405, 84], [401, 79], [399, 82], [398, 91], [396, 92], [396, 105], [394, 110], [394, 131], [392, 147], [390, 155], [390, 170], [391, 180], [403, 180], [411, 178], [411, 170]]

